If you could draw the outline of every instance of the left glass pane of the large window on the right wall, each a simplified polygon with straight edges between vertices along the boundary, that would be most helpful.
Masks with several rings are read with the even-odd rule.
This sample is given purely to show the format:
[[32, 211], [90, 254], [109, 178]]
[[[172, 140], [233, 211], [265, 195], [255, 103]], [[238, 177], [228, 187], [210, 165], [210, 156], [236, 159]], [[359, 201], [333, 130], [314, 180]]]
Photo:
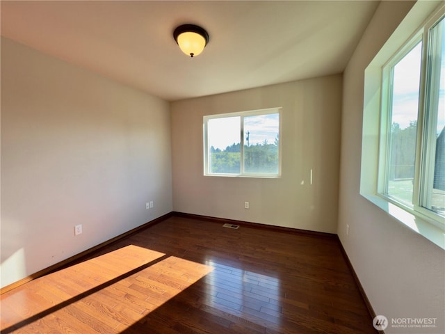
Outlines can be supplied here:
[[[399, 202], [412, 205], [416, 160], [417, 121], [421, 79], [422, 42], [414, 41], [383, 69], [382, 134], [380, 159], [384, 173], [380, 193]], [[387, 109], [387, 110], [385, 110]], [[386, 111], [386, 112], [385, 112]]]

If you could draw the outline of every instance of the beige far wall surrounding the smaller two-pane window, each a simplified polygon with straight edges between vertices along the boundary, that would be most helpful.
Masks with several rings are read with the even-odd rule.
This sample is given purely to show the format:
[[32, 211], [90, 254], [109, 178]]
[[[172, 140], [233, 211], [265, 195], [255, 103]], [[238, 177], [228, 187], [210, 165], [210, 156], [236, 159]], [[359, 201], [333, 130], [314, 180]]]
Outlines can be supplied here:
[[[334, 75], [172, 102], [175, 211], [336, 232], [341, 85]], [[281, 178], [204, 177], [202, 116], [280, 106]]]

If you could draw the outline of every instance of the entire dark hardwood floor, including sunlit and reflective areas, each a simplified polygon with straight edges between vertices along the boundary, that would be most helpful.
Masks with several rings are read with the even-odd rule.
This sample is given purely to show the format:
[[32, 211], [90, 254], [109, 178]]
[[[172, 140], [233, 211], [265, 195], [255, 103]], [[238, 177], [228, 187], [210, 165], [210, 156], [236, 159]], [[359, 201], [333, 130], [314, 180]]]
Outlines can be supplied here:
[[335, 237], [172, 216], [1, 295], [1, 333], [378, 333]]

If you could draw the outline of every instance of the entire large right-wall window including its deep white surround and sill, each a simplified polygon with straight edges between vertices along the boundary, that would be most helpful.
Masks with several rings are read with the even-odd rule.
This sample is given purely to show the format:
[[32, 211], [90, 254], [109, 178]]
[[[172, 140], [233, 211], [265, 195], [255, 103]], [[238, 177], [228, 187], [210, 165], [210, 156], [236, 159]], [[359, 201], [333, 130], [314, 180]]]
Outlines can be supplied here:
[[[382, 63], [380, 55], [381, 65], [365, 72], [360, 190], [389, 214], [398, 212], [393, 215], [417, 232], [437, 234], [432, 239], [444, 248], [445, 6], [385, 57]], [[371, 82], [377, 77], [378, 84]], [[380, 99], [375, 99], [376, 90]], [[375, 113], [371, 109], [378, 109], [378, 115], [370, 116]], [[367, 122], [374, 122], [374, 129]], [[370, 133], [375, 143], [366, 138]], [[371, 181], [365, 180], [366, 173], [374, 175]], [[432, 228], [425, 228], [428, 224]]]

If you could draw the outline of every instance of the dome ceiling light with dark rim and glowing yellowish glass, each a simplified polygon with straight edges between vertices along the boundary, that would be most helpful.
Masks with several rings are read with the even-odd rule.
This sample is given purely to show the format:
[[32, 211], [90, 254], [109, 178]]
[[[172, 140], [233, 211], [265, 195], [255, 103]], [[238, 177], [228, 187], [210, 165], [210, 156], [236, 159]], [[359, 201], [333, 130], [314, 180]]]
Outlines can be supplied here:
[[200, 26], [183, 24], [173, 31], [173, 37], [187, 56], [197, 56], [209, 42], [209, 34]]

